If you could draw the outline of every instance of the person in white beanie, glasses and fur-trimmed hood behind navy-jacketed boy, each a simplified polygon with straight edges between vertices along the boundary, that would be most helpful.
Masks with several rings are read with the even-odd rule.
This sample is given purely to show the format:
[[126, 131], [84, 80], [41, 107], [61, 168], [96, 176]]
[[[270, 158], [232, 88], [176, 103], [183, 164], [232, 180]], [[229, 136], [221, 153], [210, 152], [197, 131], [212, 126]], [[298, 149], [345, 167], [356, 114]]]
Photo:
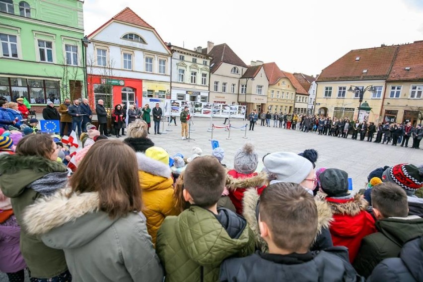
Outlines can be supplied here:
[[[308, 193], [313, 195], [313, 190], [317, 186], [317, 178], [312, 163], [295, 153], [274, 152], [263, 158], [265, 168], [263, 171], [269, 175], [271, 184], [279, 182], [291, 182], [299, 184]], [[266, 190], [267, 188], [265, 188]], [[260, 228], [256, 217], [256, 207], [259, 195], [253, 189], [244, 193], [243, 215], [255, 233], [256, 246], [262, 251], [268, 249], [266, 242], [260, 236]], [[329, 232], [329, 222], [332, 220], [332, 211], [325, 201], [314, 198], [318, 210], [318, 234], [311, 246], [312, 251], [323, 250], [333, 247], [331, 234]]]

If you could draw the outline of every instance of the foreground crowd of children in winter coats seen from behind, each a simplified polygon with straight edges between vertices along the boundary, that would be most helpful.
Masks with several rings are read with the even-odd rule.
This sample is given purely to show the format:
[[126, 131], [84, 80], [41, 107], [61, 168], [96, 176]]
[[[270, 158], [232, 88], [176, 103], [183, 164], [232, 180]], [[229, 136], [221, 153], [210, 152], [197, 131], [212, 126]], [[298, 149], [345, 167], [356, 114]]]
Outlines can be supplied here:
[[2, 130], [10, 282], [423, 281], [423, 166], [378, 167], [354, 195], [313, 149], [257, 171], [247, 142], [226, 168], [223, 148], [170, 156], [148, 129], [135, 118], [119, 141], [87, 123], [72, 157], [60, 136]]

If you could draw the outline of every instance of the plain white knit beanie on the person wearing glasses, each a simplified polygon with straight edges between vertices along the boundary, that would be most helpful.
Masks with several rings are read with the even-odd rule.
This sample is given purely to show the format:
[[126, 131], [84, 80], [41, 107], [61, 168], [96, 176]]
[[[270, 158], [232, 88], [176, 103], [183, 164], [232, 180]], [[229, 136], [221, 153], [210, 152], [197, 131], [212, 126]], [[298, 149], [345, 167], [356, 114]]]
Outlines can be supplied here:
[[268, 154], [263, 163], [278, 181], [296, 184], [300, 184], [313, 169], [313, 165], [308, 159], [290, 152]]

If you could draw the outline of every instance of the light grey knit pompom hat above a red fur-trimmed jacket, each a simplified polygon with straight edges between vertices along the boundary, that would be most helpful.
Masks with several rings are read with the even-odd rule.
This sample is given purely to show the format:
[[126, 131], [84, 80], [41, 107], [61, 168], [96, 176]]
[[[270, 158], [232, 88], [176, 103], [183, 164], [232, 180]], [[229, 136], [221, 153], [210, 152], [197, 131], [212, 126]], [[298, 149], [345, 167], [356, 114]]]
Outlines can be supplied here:
[[238, 149], [233, 158], [233, 168], [238, 173], [250, 174], [257, 169], [259, 155], [254, 151], [252, 143], [245, 143]]

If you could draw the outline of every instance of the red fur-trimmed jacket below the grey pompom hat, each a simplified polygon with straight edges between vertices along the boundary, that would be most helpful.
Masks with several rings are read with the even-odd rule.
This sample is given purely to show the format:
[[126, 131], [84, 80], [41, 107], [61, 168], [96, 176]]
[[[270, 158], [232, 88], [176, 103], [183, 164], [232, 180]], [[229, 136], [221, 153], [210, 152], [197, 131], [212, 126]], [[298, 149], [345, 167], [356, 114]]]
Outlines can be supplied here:
[[[262, 194], [263, 189], [266, 188], [266, 179], [262, 175], [253, 172], [250, 174], [242, 174], [232, 169], [228, 171], [228, 174], [234, 179], [239, 179], [239, 183], [242, 183], [245, 188], [229, 189], [229, 198], [232, 204], [235, 206], [236, 212], [242, 215], [242, 199], [244, 198], [244, 192], [247, 188], [254, 187], [257, 190], [257, 194]], [[238, 185], [239, 186], [239, 185]]]

